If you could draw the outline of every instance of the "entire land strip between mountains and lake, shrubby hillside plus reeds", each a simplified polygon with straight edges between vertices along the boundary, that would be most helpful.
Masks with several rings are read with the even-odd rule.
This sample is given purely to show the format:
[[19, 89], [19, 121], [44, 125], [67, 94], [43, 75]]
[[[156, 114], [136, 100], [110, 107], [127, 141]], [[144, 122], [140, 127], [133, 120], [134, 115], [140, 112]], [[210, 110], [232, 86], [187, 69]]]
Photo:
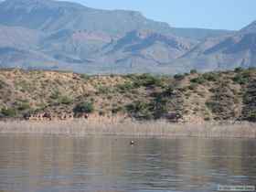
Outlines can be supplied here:
[[[191, 70], [174, 77], [1, 69], [0, 119], [1, 133], [72, 133], [84, 127], [78, 133], [255, 137], [256, 69]], [[190, 132], [188, 125], [197, 128]]]

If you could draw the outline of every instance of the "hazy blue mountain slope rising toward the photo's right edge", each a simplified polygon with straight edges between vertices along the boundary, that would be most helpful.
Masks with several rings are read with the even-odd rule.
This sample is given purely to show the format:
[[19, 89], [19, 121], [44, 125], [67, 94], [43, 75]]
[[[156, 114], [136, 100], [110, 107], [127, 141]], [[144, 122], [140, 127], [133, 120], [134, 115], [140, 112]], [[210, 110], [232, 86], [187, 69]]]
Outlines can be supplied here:
[[234, 34], [206, 39], [175, 63], [203, 71], [249, 68], [256, 66], [255, 53], [256, 27], [253, 22]]

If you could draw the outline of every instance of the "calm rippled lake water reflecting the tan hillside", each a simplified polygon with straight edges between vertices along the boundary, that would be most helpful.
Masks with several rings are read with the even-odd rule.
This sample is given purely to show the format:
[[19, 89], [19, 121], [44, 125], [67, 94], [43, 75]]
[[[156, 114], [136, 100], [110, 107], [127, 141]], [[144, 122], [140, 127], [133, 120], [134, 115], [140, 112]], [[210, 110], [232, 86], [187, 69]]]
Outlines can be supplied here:
[[[133, 138], [132, 138], [133, 139]], [[256, 141], [0, 135], [0, 191], [217, 191], [256, 186]]]

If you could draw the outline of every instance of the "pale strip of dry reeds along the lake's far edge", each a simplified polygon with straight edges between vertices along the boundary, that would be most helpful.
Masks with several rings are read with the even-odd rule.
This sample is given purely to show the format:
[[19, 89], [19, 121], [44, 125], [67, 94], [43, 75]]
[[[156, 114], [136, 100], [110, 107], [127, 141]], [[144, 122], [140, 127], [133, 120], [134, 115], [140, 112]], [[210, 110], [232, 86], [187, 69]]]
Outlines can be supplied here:
[[73, 136], [118, 135], [135, 137], [225, 137], [256, 138], [255, 123], [176, 124], [158, 122], [91, 123], [0, 122], [0, 133], [67, 134]]

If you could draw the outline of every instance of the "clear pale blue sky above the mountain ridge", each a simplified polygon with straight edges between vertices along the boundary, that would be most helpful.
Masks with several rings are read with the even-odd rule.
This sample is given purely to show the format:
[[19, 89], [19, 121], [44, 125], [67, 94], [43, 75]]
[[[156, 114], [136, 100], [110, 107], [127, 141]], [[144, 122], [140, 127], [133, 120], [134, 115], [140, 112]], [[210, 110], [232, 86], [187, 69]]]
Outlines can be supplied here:
[[69, 0], [92, 8], [136, 10], [171, 27], [238, 30], [256, 20], [256, 0]]

